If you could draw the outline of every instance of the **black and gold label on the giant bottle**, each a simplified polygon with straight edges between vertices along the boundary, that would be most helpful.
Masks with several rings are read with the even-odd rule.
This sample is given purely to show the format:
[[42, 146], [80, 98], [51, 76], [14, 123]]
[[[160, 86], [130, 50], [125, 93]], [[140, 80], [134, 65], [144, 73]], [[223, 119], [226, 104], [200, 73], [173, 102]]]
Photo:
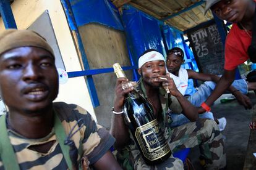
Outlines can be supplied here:
[[156, 119], [137, 127], [135, 137], [138, 140], [143, 155], [150, 161], [157, 160], [171, 151], [163, 132], [159, 129]]

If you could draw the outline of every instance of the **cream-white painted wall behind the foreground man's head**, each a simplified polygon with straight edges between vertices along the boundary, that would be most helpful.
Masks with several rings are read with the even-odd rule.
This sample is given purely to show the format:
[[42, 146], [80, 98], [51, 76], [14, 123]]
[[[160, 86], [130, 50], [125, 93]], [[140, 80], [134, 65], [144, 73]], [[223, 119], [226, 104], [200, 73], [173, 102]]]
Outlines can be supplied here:
[[[15, 22], [18, 29], [21, 30], [27, 29], [45, 10], [49, 11], [66, 71], [82, 70], [60, 0], [17, 0], [12, 3]], [[5, 28], [0, 18], [0, 32], [3, 30]], [[87, 84], [83, 77], [70, 78], [66, 84], [60, 84], [56, 101], [80, 105], [96, 119]]]

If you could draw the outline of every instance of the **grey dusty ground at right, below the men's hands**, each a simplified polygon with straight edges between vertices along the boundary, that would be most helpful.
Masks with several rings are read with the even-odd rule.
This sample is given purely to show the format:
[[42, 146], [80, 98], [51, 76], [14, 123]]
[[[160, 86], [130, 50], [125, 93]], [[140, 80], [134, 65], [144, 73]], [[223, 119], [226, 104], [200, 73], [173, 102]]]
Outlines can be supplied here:
[[[226, 96], [223, 95], [221, 98]], [[250, 92], [249, 97], [255, 105], [256, 97], [254, 92]], [[220, 103], [220, 99], [213, 105], [212, 112], [216, 118], [224, 116], [227, 119], [226, 129], [222, 132], [226, 142], [227, 168], [230, 170], [239, 170], [244, 166], [252, 110], [245, 110], [236, 100], [228, 103]], [[189, 154], [189, 158], [192, 160], [196, 170], [202, 169], [198, 161], [198, 155], [198, 147], [193, 148]]]

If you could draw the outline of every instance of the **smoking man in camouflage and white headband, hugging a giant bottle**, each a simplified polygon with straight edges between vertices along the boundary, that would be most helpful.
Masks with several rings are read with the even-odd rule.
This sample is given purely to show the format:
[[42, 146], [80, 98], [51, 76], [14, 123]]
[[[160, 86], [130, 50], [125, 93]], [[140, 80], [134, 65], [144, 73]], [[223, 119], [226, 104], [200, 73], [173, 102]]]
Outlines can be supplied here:
[[[139, 60], [140, 78], [138, 86], [122, 89], [121, 84], [126, 83], [126, 78], [118, 78], [116, 83], [114, 113], [122, 110], [124, 96], [135, 89], [147, 99], [154, 110], [160, 123], [160, 129], [168, 141], [172, 152], [181, 148], [200, 147], [201, 156], [204, 158], [207, 169], [221, 169], [226, 166], [224, 142], [220, 130], [211, 119], [198, 119], [197, 108], [189, 103], [177, 90], [173, 79], [166, 76], [166, 67], [163, 55], [156, 51], [146, 51]], [[146, 59], [145, 59], [146, 58]], [[160, 79], [161, 78], [166, 78]], [[170, 94], [166, 93], [168, 87]], [[174, 113], [184, 113], [191, 123], [171, 129], [172, 123], [168, 108]], [[121, 111], [122, 112], [122, 111]], [[120, 113], [121, 113], [120, 112]], [[141, 153], [135, 145], [135, 140], [125, 124], [122, 114], [113, 116], [111, 133], [116, 138], [116, 157], [124, 169], [182, 169], [182, 161], [173, 155], [166, 161], [155, 166], [148, 166], [143, 161]]]

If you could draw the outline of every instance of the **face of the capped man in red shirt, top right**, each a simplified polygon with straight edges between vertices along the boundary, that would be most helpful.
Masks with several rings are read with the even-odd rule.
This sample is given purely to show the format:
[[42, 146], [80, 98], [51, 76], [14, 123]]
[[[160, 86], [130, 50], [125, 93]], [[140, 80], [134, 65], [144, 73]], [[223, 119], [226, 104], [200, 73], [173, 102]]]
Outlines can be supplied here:
[[213, 5], [211, 10], [222, 20], [238, 23], [247, 14], [248, 4], [248, 0], [223, 0]]

